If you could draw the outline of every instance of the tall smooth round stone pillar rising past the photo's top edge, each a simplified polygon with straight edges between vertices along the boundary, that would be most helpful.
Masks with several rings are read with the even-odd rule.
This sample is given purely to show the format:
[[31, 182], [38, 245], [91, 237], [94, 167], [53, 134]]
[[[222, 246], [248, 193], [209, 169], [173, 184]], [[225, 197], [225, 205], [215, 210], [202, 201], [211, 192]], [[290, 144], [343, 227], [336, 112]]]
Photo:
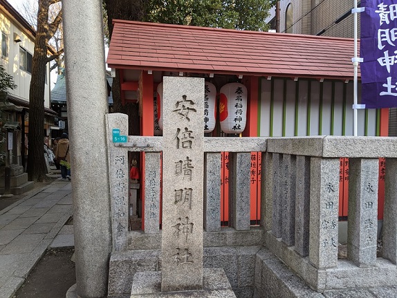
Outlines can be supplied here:
[[111, 218], [102, 1], [62, 3], [77, 295], [104, 297]]

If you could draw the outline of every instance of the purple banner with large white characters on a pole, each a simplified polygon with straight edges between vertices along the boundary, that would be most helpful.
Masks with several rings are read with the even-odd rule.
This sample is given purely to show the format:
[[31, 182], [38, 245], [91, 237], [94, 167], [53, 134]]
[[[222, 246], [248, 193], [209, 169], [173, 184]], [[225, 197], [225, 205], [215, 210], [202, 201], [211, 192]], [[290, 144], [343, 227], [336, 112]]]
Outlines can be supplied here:
[[361, 104], [366, 109], [397, 106], [396, 0], [362, 0]]

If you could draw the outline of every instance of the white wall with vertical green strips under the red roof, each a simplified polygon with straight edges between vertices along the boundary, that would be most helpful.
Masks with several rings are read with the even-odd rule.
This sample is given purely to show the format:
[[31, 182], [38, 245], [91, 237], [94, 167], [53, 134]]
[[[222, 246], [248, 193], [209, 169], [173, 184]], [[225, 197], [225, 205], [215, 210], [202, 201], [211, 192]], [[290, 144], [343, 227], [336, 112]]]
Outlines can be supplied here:
[[[353, 135], [353, 82], [280, 77], [260, 84], [260, 136]], [[376, 109], [358, 110], [358, 136], [376, 136], [376, 124]]]

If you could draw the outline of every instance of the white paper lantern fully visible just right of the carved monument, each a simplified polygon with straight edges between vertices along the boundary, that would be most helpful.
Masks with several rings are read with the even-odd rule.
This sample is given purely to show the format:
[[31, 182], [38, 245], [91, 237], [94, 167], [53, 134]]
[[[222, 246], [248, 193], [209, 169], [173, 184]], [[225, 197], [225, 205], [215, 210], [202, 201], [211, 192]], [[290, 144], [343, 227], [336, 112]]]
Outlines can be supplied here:
[[219, 121], [224, 133], [242, 133], [247, 122], [247, 88], [240, 83], [222, 86], [219, 95]]

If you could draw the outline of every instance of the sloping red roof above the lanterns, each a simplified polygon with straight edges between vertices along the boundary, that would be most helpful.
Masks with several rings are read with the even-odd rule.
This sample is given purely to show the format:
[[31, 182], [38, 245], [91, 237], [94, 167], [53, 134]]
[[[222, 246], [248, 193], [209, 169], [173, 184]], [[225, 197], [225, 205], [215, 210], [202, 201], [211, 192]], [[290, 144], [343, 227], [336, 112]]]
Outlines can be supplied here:
[[353, 39], [113, 21], [111, 68], [352, 79]]

